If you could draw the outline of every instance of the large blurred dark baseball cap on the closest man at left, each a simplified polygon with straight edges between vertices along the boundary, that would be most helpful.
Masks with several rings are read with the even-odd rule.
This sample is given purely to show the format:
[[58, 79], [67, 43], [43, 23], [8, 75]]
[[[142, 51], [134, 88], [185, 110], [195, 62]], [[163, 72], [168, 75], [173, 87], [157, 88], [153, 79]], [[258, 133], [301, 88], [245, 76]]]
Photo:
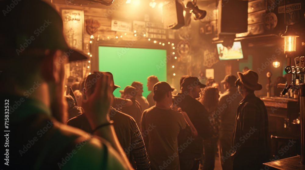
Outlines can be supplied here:
[[[63, 35], [63, 20], [48, 3], [41, 0], [0, 2], [0, 57], [45, 56], [46, 50], [62, 50], [63, 60], [88, 59], [70, 48]], [[82, 41], [82, 40], [81, 40]], [[81, 45], [81, 43], [79, 44]]]

